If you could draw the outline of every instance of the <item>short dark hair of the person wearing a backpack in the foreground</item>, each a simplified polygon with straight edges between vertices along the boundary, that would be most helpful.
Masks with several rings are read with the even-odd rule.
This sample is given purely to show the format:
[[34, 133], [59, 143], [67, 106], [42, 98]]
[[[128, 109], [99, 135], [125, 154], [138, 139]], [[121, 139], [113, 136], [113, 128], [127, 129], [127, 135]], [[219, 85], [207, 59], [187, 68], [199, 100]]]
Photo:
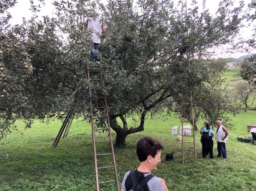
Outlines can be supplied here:
[[145, 161], [149, 155], [151, 155], [153, 158], [155, 158], [155, 155], [158, 151], [163, 149], [164, 147], [162, 144], [151, 137], [142, 137], [137, 142], [137, 155], [139, 158], [139, 161]]

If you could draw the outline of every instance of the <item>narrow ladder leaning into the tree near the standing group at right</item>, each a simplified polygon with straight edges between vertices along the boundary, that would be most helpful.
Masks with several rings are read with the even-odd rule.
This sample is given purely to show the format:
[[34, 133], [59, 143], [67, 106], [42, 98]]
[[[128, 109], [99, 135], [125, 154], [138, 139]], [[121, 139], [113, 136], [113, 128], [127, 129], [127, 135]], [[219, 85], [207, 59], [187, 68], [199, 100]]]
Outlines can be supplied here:
[[[195, 159], [195, 164], [197, 164], [197, 149], [196, 149], [196, 142], [195, 142], [195, 126], [194, 126], [194, 114], [193, 114], [193, 103], [192, 103], [192, 91], [190, 90], [190, 103], [187, 103], [186, 108], [181, 108], [181, 126], [182, 126], [182, 164], [184, 164], [184, 159], [185, 158], [194, 158]], [[189, 113], [189, 114], [187, 114]], [[188, 128], [183, 128], [183, 123], [190, 123], [190, 121], [184, 121], [184, 118], [190, 117], [192, 119], [192, 126], [193, 126], [193, 142], [187, 142], [184, 141], [184, 132], [183, 129], [188, 129]], [[191, 129], [190, 129], [191, 130]], [[184, 147], [187, 144], [193, 144], [193, 149], [188, 149], [187, 147]], [[192, 156], [184, 156], [184, 151], [188, 152], [193, 152], [193, 157]]]

